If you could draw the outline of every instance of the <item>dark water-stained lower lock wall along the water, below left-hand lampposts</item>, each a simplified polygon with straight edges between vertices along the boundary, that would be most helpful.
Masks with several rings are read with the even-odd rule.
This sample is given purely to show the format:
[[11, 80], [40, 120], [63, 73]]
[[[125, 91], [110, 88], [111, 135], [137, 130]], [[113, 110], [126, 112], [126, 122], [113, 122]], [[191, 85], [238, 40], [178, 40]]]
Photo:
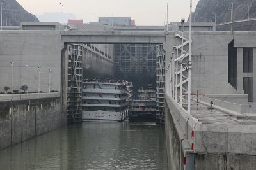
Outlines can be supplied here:
[[66, 124], [60, 94], [39, 95], [0, 101], [0, 150]]

